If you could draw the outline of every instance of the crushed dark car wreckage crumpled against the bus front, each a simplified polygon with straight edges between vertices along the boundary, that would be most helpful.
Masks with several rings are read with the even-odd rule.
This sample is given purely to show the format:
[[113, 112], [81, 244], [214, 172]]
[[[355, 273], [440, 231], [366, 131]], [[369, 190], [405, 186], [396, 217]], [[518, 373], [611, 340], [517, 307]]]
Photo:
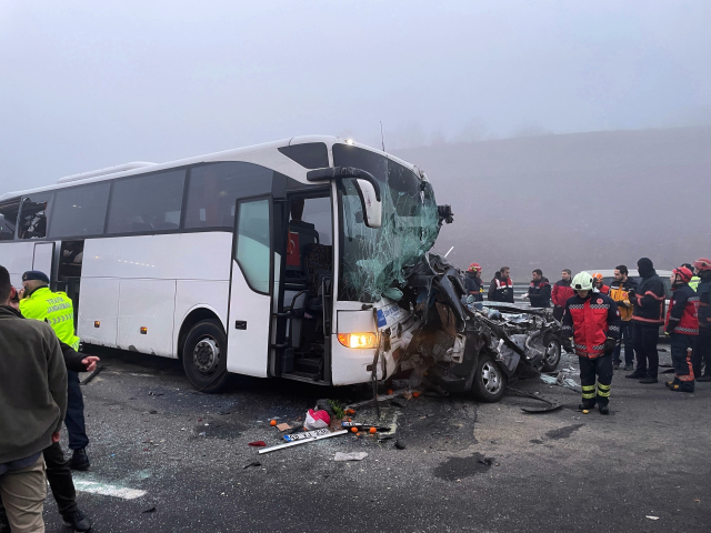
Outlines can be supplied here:
[[[452, 221], [451, 209], [440, 205], [438, 233], [445, 221]], [[495, 402], [524, 373], [558, 366], [561, 326], [549, 310], [474, 304], [461, 270], [429, 249], [403, 264], [398, 278], [382, 290], [397, 303], [374, 310], [380, 346], [370, 368], [373, 388], [378, 375], [410, 371], [411, 388], [471, 391]]]

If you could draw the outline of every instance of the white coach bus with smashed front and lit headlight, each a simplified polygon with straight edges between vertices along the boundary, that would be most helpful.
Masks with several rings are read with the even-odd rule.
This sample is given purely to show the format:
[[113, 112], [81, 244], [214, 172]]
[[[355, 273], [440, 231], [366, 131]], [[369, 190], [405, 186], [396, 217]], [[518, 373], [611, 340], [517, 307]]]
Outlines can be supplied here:
[[6, 193], [0, 264], [50, 275], [84, 344], [179, 358], [198, 390], [344, 385], [395, 370], [419, 321], [393, 284], [440, 224], [417, 167], [302, 137]]

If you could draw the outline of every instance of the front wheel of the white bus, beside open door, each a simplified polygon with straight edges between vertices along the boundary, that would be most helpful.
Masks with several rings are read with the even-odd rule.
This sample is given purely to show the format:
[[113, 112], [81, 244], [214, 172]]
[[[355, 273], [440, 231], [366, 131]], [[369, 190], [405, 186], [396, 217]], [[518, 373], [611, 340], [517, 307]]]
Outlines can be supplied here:
[[227, 336], [219, 320], [203, 320], [190, 329], [183, 343], [182, 368], [198, 391], [212, 394], [224, 390], [229, 382]]

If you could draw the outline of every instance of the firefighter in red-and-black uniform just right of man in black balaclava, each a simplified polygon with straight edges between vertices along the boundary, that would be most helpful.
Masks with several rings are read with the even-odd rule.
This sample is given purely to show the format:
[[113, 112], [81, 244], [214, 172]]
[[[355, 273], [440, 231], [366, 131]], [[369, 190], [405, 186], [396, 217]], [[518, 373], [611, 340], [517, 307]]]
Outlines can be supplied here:
[[674, 269], [669, 276], [673, 295], [667, 312], [664, 332], [671, 343], [671, 362], [674, 379], [665, 385], [674, 392], [693, 392], [693, 368], [691, 354], [699, 336], [699, 296], [689, 286], [693, 276], [685, 266]]

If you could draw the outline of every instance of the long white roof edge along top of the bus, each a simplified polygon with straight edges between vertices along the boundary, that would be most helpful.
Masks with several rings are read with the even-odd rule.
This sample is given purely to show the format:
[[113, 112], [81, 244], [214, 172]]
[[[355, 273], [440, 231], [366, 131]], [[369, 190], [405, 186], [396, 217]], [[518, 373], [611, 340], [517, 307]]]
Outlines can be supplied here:
[[[137, 175], [137, 174], [142, 174], [146, 172], [153, 172], [157, 170], [164, 170], [164, 169], [171, 169], [174, 167], [183, 167], [183, 165], [188, 165], [188, 164], [196, 164], [196, 163], [207, 163], [207, 162], [212, 162], [212, 161], [239, 161], [239, 158], [241, 155], [248, 154], [248, 153], [252, 153], [252, 152], [260, 152], [263, 150], [271, 150], [273, 149], [274, 151], [279, 148], [282, 147], [288, 147], [291, 144], [304, 144], [304, 143], [309, 143], [309, 142], [323, 142], [329, 151], [331, 150], [331, 148], [333, 147], [333, 144], [349, 144], [349, 145], [354, 145], [358, 148], [362, 148], [364, 150], [370, 150], [372, 152], [377, 152], [380, 153], [382, 155], [387, 155], [389, 159], [402, 164], [403, 167], [407, 167], [408, 169], [412, 170], [415, 174], [418, 174], [418, 177], [424, 177], [423, 173], [420, 172], [420, 170], [413, 165], [412, 163], [409, 163], [407, 161], [401, 160], [400, 158], [397, 158], [394, 155], [392, 155], [391, 153], [387, 153], [383, 152], [382, 150], [378, 150], [374, 149], [372, 147], [369, 147], [367, 144], [361, 144], [358, 142], [354, 142], [350, 139], [341, 139], [339, 137], [333, 137], [333, 135], [301, 135], [301, 137], [292, 137], [290, 139], [282, 139], [279, 141], [272, 141], [272, 142], [266, 142], [262, 144], [252, 144], [249, 147], [243, 147], [243, 148], [236, 148], [236, 149], [231, 149], [231, 150], [223, 150], [221, 152], [213, 152], [213, 153], [208, 153], [204, 155], [197, 155], [197, 157], [192, 157], [192, 158], [186, 158], [186, 159], [179, 159], [176, 161], [168, 161], [164, 163], [151, 163], [151, 162], [147, 162], [147, 161], [133, 161], [130, 163], [123, 163], [123, 164], [119, 164], [119, 165], [114, 165], [114, 167], [108, 167], [108, 168], [103, 168], [103, 169], [98, 169], [98, 170], [91, 170], [88, 172], [81, 172], [78, 174], [70, 174], [70, 175], [66, 175], [63, 178], [60, 178], [59, 180], [57, 180], [57, 183], [52, 183], [49, 185], [43, 185], [43, 187], [38, 187], [34, 189], [27, 189], [27, 190], [22, 190], [22, 191], [14, 191], [14, 192], [7, 192], [4, 194], [0, 194], [0, 201], [3, 200], [8, 200], [11, 198], [17, 198], [17, 197], [23, 197], [30, 193], [36, 193], [36, 192], [43, 192], [43, 191], [52, 191], [52, 190], [57, 190], [57, 189], [63, 189], [66, 187], [71, 187], [71, 185], [77, 185], [77, 184], [83, 184], [83, 183], [94, 183], [98, 181], [104, 181], [104, 180], [111, 180], [111, 179], [116, 179], [116, 178], [123, 178], [127, 175]], [[279, 152], [278, 152], [279, 153]], [[287, 155], [283, 155], [284, 160], [289, 160], [291, 161]], [[304, 175], [306, 175], [306, 170], [304, 169]], [[427, 178], [424, 178], [427, 179]]]

